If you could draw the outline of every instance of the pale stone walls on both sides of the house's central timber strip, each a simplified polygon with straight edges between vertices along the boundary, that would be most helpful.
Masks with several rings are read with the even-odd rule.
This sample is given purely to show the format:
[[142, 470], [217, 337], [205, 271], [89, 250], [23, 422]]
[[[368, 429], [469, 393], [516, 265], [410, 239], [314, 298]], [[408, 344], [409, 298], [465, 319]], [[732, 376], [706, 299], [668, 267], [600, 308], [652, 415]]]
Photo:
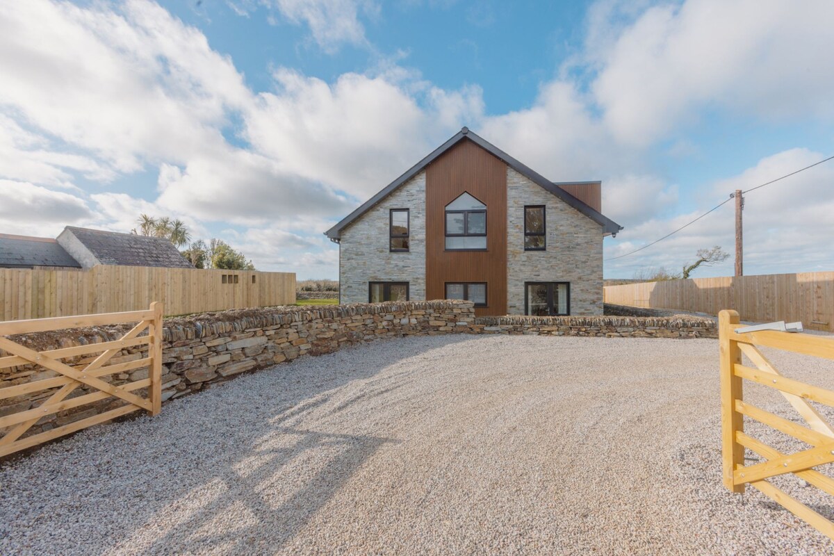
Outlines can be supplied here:
[[[525, 313], [525, 282], [567, 282], [571, 315], [602, 314], [602, 226], [513, 168], [506, 173], [507, 313]], [[546, 207], [545, 251], [524, 250], [525, 205]], [[392, 208], [409, 208], [408, 253], [389, 251]], [[409, 299], [425, 300], [425, 211], [424, 170], [341, 231], [341, 303], [368, 303], [369, 282], [408, 282]]]

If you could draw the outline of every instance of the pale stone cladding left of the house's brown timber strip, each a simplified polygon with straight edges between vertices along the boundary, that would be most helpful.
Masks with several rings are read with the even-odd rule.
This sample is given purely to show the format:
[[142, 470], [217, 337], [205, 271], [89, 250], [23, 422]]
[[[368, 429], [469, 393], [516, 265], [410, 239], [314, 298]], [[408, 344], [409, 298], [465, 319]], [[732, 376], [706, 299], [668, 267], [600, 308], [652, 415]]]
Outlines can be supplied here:
[[[391, 208], [410, 210], [408, 253], [389, 251]], [[425, 171], [344, 228], [340, 250], [341, 303], [368, 303], [369, 282], [408, 282], [409, 299], [425, 299]]]

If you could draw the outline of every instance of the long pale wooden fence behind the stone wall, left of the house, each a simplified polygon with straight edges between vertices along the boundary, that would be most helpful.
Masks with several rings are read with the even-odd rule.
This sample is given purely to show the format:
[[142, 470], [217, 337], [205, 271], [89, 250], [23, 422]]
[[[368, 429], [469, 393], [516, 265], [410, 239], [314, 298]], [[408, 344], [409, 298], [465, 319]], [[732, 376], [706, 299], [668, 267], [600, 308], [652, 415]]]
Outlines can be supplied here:
[[295, 303], [295, 274], [105, 265], [88, 271], [0, 268], [0, 321], [136, 311], [154, 300], [164, 303], [168, 315], [286, 305]]

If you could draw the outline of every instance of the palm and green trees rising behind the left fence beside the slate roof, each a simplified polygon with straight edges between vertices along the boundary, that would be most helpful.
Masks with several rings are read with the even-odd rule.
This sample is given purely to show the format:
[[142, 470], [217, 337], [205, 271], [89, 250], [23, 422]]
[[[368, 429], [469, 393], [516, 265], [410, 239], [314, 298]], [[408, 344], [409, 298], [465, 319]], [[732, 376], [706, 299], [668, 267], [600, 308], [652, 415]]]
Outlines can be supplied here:
[[[227, 270], [254, 270], [252, 261], [244, 253], [232, 248], [229, 243], [219, 238], [211, 238], [206, 243], [203, 239], [192, 241], [191, 232], [179, 218], [167, 216], [153, 217], [140, 214], [138, 226], [130, 232], [153, 238], [165, 238], [180, 249], [183, 257], [194, 268], [223, 268]], [[184, 249], [183, 249], [184, 247]]]

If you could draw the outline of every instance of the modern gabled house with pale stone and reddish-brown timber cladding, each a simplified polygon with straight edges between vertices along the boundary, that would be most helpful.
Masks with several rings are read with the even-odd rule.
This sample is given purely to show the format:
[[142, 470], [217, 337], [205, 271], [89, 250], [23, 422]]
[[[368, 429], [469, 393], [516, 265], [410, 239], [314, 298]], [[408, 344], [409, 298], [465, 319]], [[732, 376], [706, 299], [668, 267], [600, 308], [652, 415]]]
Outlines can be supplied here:
[[554, 183], [467, 128], [330, 228], [341, 303], [469, 299], [479, 315], [602, 313], [600, 182]]

